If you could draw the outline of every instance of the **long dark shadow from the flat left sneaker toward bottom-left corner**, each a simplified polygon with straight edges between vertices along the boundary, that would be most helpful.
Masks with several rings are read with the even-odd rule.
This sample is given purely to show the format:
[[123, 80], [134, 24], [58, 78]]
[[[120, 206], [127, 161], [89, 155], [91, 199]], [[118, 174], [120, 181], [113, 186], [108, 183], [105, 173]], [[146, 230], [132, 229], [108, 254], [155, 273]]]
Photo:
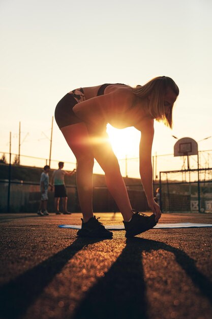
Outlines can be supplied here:
[[101, 239], [80, 239], [0, 288], [0, 317], [16, 319], [39, 297], [64, 265], [83, 247]]

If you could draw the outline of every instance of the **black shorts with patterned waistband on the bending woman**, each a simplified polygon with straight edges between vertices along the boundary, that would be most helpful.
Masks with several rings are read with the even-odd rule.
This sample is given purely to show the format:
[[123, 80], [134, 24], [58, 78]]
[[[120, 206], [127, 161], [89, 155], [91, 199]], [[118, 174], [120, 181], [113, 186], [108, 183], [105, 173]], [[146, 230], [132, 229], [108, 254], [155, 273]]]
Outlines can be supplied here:
[[59, 128], [82, 122], [73, 112], [74, 105], [82, 101], [85, 101], [85, 95], [83, 89], [79, 88], [67, 93], [57, 103], [54, 118]]

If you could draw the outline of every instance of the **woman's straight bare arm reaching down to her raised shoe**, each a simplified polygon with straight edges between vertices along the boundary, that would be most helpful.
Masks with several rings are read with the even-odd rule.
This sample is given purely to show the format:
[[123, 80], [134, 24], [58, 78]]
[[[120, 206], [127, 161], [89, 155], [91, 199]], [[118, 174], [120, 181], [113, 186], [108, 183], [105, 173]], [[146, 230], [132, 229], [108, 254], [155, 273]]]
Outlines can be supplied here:
[[154, 120], [145, 120], [139, 127], [141, 130], [139, 146], [141, 182], [146, 194], [148, 206], [152, 209], [156, 216], [156, 221], [158, 221], [161, 217], [161, 210], [160, 206], [155, 202], [153, 195], [152, 145], [154, 138]]

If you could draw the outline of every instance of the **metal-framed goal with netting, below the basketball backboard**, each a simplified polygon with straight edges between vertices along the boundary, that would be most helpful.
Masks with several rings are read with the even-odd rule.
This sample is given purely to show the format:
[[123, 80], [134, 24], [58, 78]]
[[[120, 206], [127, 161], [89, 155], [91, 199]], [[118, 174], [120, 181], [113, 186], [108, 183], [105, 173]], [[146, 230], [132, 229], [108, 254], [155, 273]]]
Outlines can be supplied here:
[[212, 212], [212, 168], [160, 172], [165, 212]]

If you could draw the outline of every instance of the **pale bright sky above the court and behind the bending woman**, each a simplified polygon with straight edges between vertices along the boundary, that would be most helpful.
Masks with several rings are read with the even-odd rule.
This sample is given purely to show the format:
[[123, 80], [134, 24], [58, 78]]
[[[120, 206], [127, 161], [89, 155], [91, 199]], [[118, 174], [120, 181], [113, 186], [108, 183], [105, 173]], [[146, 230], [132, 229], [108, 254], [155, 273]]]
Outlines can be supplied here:
[[[172, 135], [211, 136], [211, 9], [210, 0], [1, 0], [0, 152], [9, 151], [10, 131], [18, 152], [21, 121], [21, 153], [48, 158], [51, 118], [67, 92], [159, 75], [180, 95], [173, 130], [155, 125], [153, 154], [173, 153]], [[108, 132], [119, 158], [138, 156], [138, 131]], [[211, 148], [212, 138], [199, 143]], [[52, 158], [75, 162], [55, 121]]]

